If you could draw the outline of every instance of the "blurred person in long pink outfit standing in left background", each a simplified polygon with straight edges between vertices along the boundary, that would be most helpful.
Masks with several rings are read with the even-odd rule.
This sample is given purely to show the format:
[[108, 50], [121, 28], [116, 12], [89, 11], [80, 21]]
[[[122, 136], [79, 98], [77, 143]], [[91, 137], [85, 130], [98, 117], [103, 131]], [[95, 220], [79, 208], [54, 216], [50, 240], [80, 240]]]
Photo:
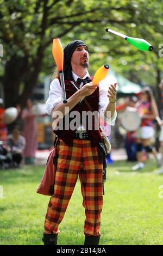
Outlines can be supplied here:
[[26, 138], [26, 148], [23, 156], [26, 164], [34, 164], [35, 151], [37, 149], [37, 127], [35, 115], [32, 113], [32, 100], [27, 100], [27, 107], [22, 111], [22, 119], [24, 120], [23, 136]]

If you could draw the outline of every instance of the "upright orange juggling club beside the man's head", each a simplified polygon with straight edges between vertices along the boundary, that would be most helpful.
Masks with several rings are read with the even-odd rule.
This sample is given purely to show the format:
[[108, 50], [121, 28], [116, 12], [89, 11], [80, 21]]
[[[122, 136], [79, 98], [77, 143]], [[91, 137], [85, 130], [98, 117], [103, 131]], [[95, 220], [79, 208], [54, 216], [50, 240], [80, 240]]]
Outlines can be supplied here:
[[62, 95], [64, 99], [64, 103], [67, 103], [66, 100], [66, 92], [65, 92], [65, 81], [64, 81], [64, 50], [62, 48], [61, 42], [59, 38], [53, 39], [52, 53], [57, 65], [57, 69], [59, 71], [61, 87], [62, 87]]

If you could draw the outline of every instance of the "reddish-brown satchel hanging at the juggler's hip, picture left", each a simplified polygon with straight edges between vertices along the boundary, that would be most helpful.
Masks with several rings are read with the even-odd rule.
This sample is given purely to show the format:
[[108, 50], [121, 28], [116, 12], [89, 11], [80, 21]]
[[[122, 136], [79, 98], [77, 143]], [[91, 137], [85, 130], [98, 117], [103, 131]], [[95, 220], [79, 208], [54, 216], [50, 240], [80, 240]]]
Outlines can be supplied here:
[[52, 196], [54, 194], [54, 182], [55, 182], [55, 172], [57, 168], [57, 141], [54, 143], [54, 148], [48, 156], [45, 172], [42, 176], [41, 183], [37, 188], [37, 193], [43, 194], [45, 196]]

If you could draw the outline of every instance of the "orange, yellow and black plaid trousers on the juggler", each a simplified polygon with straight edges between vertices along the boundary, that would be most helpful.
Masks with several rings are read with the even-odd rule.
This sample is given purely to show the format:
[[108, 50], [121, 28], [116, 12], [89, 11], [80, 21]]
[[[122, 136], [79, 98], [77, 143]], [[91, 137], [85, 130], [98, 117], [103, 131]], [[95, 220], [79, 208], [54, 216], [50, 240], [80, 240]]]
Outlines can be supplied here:
[[97, 148], [91, 148], [89, 140], [74, 139], [72, 147], [60, 140], [57, 151], [54, 194], [48, 204], [45, 233], [60, 233], [58, 227], [65, 215], [79, 174], [86, 216], [84, 234], [101, 235], [99, 229], [103, 206], [103, 166], [98, 161]]

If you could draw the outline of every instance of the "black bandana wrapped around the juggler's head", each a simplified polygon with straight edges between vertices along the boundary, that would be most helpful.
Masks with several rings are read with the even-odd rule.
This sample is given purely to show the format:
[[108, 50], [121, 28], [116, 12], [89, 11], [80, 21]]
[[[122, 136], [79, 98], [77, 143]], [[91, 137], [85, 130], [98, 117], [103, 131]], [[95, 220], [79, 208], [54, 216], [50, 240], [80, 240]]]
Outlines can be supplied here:
[[72, 80], [71, 57], [74, 50], [80, 45], [86, 46], [83, 41], [74, 40], [64, 48], [64, 77], [66, 80]]

